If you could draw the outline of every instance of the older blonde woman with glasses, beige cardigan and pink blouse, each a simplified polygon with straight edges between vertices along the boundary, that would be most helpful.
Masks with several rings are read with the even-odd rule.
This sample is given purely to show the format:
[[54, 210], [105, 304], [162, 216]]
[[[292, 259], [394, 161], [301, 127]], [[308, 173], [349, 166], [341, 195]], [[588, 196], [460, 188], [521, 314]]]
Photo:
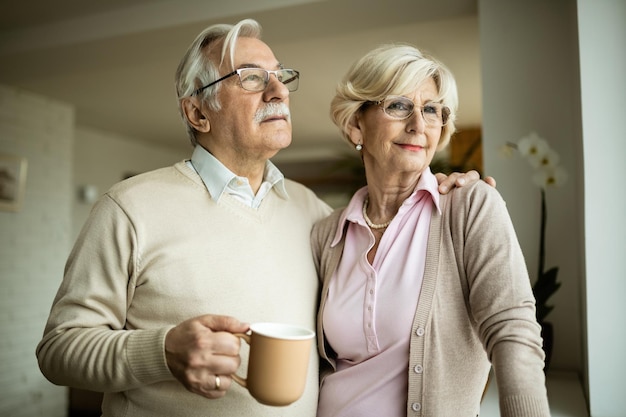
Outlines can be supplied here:
[[476, 181], [437, 192], [455, 131], [450, 71], [408, 45], [357, 61], [331, 115], [367, 186], [317, 223], [318, 417], [476, 416], [491, 366], [502, 416], [549, 416], [544, 353], [504, 201]]

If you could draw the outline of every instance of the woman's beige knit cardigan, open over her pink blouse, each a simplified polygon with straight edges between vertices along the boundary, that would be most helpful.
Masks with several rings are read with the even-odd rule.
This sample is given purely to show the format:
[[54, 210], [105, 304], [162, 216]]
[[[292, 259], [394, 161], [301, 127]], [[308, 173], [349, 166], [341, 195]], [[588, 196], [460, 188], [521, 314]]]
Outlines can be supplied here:
[[[433, 212], [422, 290], [407, 335], [407, 416], [477, 416], [490, 362], [503, 417], [549, 416], [535, 300], [504, 201], [477, 181], [441, 196], [441, 207], [441, 215]], [[340, 215], [336, 211], [312, 233], [320, 312], [343, 250], [343, 240], [330, 246]], [[332, 372], [321, 314], [317, 336], [322, 365]]]

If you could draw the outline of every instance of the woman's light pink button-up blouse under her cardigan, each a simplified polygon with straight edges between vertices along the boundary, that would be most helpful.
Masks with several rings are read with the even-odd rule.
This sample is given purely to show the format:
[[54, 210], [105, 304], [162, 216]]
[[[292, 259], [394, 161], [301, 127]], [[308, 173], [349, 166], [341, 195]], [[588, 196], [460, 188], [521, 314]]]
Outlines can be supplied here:
[[437, 180], [427, 169], [385, 231], [372, 265], [374, 235], [363, 219], [367, 187], [340, 218], [348, 222], [343, 257], [323, 311], [324, 333], [337, 353], [337, 372], [324, 379], [318, 417], [405, 416], [409, 338], [417, 307]]

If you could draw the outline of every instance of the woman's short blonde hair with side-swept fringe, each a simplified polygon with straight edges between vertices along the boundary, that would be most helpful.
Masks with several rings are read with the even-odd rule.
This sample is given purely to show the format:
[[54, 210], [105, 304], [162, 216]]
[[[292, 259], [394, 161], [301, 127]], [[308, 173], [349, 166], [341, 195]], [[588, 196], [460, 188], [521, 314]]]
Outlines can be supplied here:
[[371, 50], [352, 64], [338, 84], [330, 105], [330, 117], [350, 145], [348, 128], [352, 118], [373, 101], [389, 95], [415, 90], [432, 78], [440, 101], [450, 109], [450, 117], [442, 127], [438, 150], [445, 148], [455, 132], [458, 108], [456, 81], [452, 72], [440, 61], [407, 44], [387, 44]]

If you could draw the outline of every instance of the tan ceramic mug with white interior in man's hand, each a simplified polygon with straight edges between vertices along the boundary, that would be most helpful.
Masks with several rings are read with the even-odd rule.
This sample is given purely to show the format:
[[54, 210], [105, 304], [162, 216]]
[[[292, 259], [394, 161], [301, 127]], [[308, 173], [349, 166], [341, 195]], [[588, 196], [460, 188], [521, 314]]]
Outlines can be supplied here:
[[250, 345], [248, 375], [232, 375], [261, 404], [284, 406], [304, 392], [315, 332], [281, 323], [254, 323], [249, 334], [238, 333]]

